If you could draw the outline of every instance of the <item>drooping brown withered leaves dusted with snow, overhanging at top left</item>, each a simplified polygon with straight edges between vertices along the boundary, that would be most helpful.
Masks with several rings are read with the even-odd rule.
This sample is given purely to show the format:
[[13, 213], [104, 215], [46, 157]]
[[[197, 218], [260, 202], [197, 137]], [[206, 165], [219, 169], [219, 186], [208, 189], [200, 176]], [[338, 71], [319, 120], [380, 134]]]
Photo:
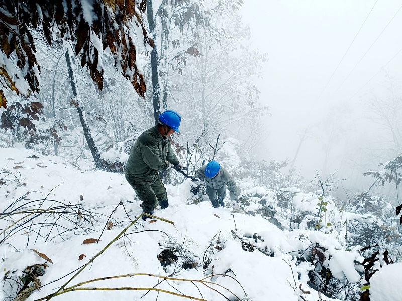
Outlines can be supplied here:
[[49, 46], [60, 39], [69, 41], [100, 90], [106, 50], [116, 69], [144, 97], [137, 48], [153, 47], [143, 23], [145, 9], [145, 0], [0, 0], [0, 105], [6, 108], [3, 89], [23, 95], [39, 92], [38, 38]]

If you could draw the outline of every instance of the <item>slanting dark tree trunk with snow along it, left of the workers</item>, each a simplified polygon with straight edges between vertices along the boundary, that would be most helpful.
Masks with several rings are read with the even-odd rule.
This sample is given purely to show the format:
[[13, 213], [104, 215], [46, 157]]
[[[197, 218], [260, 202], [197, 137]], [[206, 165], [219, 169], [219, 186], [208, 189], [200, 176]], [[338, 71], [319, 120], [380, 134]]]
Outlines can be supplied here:
[[96, 168], [103, 169], [102, 159], [100, 158], [99, 151], [95, 145], [95, 142], [92, 139], [91, 131], [90, 131], [88, 122], [85, 117], [85, 110], [81, 107], [80, 99], [79, 99], [79, 97], [77, 97], [78, 94], [77, 94], [77, 90], [75, 87], [75, 77], [74, 77], [74, 73], [73, 73], [73, 69], [72, 69], [72, 65], [71, 65], [70, 55], [68, 53], [68, 46], [66, 49], [65, 56], [66, 56], [66, 62], [67, 62], [67, 67], [68, 67], [68, 75], [70, 77], [72, 93], [74, 94], [74, 97], [76, 98], [74, 105], [76, 106], [76, 108], [78, 110], [79, 120], [81, 121], [81, 125], [82, 125], [82, 129], [84, 131], [86, 143], [88, 144], [89, 150], [92, 153], [92, 157], [93, 157], [93, 160], [95, 161]]

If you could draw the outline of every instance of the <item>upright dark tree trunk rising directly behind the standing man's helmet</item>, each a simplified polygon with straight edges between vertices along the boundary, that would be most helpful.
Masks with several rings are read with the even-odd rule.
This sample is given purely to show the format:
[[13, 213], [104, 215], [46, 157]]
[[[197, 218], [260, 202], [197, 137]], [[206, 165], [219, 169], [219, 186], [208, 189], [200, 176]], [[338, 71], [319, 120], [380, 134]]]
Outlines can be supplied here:
[[154, 106], [154, 121], [158, 123], [160, 114], [159, 100], [159, 75], [158, 75], [158, 53], [156, 50], [156, 35], [155, 35], [155, 19], [152, 9], [152, 0], [147, 0], [147, 18], [149, 32], [152, 33], [154, 39], [154, 48], [151, 51], [151, 74], [152, 74], [152, 103]]

